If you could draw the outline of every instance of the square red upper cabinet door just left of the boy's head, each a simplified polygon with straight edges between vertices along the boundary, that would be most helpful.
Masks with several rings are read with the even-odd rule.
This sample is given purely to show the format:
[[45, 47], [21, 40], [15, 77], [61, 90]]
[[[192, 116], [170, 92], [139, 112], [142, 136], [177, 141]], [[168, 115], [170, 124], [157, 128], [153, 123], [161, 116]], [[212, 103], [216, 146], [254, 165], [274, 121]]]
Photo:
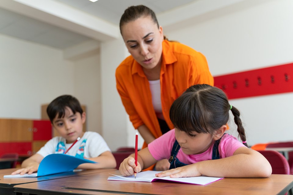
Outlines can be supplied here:
[[33, 140], [50, 140], [52, 138], [52, 126], [49, 120], [33, 121]]

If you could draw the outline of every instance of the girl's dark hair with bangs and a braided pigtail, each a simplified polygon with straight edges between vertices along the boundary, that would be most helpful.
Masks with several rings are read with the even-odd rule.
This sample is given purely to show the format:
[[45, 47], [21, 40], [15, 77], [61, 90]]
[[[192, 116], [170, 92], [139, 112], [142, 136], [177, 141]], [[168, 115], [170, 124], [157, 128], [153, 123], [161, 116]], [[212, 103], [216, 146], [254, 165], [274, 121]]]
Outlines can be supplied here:
[[[228, 98], [221, 89], [208, 84], [197, 84], [189, 87], [173, 102], [170, 119], [174, 127], [181, 131], [213, 134], [227, 124], [229, 110]], [[240, 112], [233, 106], [231, 111], [239, 136], [244, 142], [246, 137]]]

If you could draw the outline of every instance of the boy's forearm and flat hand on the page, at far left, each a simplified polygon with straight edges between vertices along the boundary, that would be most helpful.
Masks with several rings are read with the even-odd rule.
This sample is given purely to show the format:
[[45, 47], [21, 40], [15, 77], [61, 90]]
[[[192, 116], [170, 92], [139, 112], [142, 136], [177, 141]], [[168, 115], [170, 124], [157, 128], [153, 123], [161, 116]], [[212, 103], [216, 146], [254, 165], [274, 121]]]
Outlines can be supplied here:
[[37, 172], [43, 158], [44, 157], [40, 154], [32, 155], [30, 158], [27, 158], [22, 162], [21, 167], [23, 168], [16, 170], [11, 173], [11, 175], [24, 175], [25, 173], [32, 174], [33, 172]]

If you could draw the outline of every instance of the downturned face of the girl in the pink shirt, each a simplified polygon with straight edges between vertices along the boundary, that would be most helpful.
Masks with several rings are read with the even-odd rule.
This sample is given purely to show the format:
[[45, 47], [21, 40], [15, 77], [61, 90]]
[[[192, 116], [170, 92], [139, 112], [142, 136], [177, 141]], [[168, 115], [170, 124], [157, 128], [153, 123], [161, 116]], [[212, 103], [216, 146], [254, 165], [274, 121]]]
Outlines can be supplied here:
[[209, 133], [186, 133], [175, 128], [175, 137], [185, 154], [201, 154], [208, 150], [212, 144]]

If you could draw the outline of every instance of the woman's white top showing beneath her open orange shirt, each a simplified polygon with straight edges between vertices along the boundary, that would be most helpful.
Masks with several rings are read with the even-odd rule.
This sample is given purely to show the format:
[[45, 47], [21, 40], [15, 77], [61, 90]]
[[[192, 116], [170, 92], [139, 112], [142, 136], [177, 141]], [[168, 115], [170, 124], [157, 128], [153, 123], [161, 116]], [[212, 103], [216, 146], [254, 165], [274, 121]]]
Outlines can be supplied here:
[[150, 83], [150, 92], [152, 93], [152, 103], [154, 110], [159, 119], [163, 119], [164, 115], [162, 113], [162, 103], [161, 103], [161, 85], [159, 80], [149, 80]]

